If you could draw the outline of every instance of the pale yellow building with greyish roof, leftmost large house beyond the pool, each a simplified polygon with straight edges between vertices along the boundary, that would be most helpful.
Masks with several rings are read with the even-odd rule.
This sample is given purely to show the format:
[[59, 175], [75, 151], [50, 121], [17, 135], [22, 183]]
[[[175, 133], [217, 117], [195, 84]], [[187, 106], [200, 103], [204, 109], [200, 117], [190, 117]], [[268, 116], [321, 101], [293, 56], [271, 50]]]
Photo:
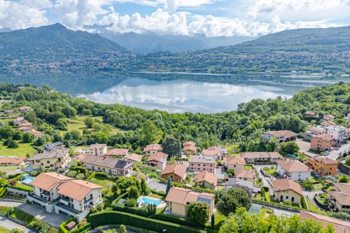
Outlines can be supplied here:
[[33, 165], [33, 169], [41, 170], [54, 170], [66, 167], [70, 160], [69, 149], [66, 148], [52, 150], [48, 153], [38, 153], [27, 159]]

